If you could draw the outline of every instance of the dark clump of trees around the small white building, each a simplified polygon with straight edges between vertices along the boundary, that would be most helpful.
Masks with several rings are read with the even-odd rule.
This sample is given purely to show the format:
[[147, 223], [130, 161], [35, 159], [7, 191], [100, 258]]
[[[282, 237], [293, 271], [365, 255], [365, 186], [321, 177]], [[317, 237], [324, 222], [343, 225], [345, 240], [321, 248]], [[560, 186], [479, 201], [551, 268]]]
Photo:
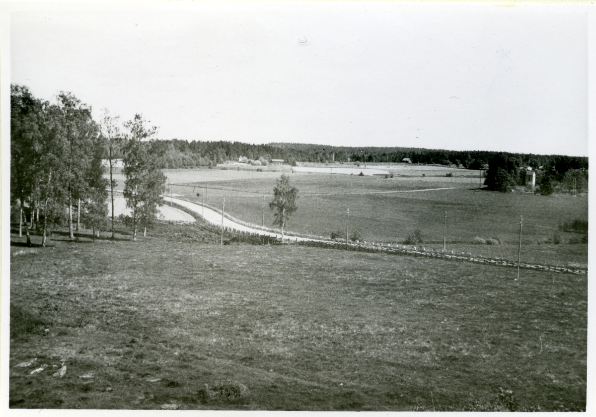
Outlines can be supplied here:
[[[584, 161], [585, 159], [585, 161]], [[514, 186], [529, 186], [532, 173], [542, 195], [559, 191], [582, 192], [588, 189], [587, 158], [551, 155], [544, 165], [531, 166], [518, 155], [496, 154], [489, 161], [485, 185], [493, 191], [507, 191]], [[528, 170], [528, 168], [532, 170]]]

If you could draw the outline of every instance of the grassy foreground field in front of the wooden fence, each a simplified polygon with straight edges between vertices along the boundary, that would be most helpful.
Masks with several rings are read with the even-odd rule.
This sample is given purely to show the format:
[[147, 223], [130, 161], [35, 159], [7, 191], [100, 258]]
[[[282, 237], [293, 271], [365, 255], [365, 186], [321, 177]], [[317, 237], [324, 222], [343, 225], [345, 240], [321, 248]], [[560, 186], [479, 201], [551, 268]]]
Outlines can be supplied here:
[[11, 407], [585, 409], [586, 276], [158, 232], [11, 247]]

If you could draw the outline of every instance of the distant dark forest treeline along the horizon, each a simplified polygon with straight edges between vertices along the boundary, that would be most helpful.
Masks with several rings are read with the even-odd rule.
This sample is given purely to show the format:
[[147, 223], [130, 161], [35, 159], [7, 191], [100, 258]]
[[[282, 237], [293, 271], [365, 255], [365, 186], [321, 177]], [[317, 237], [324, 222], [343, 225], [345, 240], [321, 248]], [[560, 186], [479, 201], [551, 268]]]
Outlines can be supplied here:
[[[172, 139], [163, 141], [163, 163], [169, 168], [192, 168], [224, 163], [246, 157], [251, 160], [283, 159], [286, 163], [313, 162], [361, 162], [396, 163], [409, 158], [415, 164], [456, 165], [467, 169], [488, 169], [496, 155], [506, 158], [508, 164], [516, 167], [532, 167], [554, 173], [556, 179], [563, 178], [569, 170], [587, 170], [587, 157], [566, 155], [535, 155], [499, 153], [495, 151], [446, 151], [423, 148], [380, 148], [380, 147], [332, 147], [312, 144], [274, 143], [252, 145], [242, 142], [201, 142]], [[165, 166], [164, 166], [165, 167]]]

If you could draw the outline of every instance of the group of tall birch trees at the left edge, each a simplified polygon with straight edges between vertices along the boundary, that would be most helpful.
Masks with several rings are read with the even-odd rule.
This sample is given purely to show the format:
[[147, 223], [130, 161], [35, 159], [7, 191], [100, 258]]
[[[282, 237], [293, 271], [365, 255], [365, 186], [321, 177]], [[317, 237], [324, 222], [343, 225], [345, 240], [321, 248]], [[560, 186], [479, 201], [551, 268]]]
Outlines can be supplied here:
[[[33, 97], [26, 86], [11, 85], [11, 207], [24, 226], [31, 244], [29, 225], [41, 228], [42, 245], [48, 232], [67, 223], [71, 239], [80, 224], [99, 231], [107, 227], [107, 188], [113, 208], [113, 158], [124, 160], [126, 204], [132, 209], [130, 223], [136, 238], [138, 225], [150, 225], [159, 194], [165, 188], [160, 171], [162, 144], [151, 141], [156, 127], [136, 115], [120, 132], [117, 118], [106, 112], [96, 123], [91, 107], [75, 95], [61, 92], [56, 102]], [[110, 161], [110, 180], [104, 178], [102, 160]], [[153, 216], [153, 217], [152, 217]], [[112, 210], [112, 236], [114, 236]]]

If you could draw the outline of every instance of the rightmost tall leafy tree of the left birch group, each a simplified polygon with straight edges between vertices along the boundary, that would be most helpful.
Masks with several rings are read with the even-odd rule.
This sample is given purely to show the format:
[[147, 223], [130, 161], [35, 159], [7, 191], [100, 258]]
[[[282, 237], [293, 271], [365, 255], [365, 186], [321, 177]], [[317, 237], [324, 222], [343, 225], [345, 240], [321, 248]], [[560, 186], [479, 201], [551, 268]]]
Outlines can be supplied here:
[[126, 207], [132, 209], [132, 239], [136, 240], [137, 228], [147, 226], [155, 219], [157, 206], [163, 205], [161, 194], [166, 186], [166, 176], [160, 170], [160, 149], [156, 142], [147, 142], [157, 132], [157, 127], [146, 127], [140, 114], [124, 123], [129, 134], [123, 147], [126, 176], [124, 197]]

